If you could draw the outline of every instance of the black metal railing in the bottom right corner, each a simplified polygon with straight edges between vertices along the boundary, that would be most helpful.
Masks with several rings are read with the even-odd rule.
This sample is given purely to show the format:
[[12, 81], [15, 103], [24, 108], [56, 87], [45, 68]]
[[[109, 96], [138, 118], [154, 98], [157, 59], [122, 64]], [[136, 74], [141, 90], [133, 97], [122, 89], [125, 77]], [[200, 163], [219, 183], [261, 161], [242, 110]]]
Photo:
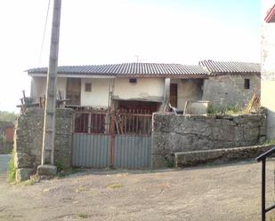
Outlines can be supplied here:
[[262, 162], [262, 221], [265, 221], [265, 215], [267, 212], [275, 209], [275, 204], [271, 205], [268, 208], [265, 208], [265, 164], [266, 158], [270, 157], [271, 154], [275, 154], [275, 146], [256, 158], [257, 162]]

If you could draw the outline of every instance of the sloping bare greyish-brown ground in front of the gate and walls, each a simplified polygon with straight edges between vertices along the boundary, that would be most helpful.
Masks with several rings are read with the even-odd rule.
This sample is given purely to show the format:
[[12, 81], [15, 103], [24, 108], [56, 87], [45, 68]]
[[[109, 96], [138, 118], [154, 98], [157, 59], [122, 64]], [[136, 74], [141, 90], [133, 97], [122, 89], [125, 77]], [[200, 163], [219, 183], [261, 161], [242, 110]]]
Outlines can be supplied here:
[[[268, 201], [275, 199], [274, 163], [267, 163]], [[0, 178], [0, 220], [260, 220], [261, 164], [255, 162], [89, 170], [35, 185]]]

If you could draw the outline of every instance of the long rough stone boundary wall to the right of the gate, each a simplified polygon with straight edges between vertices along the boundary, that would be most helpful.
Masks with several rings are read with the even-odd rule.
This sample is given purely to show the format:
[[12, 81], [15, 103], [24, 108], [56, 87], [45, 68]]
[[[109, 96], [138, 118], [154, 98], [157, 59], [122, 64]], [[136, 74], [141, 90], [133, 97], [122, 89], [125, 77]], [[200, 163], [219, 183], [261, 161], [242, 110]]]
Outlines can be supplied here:
[[254, 146], [265, 136], [265, 114], [153, 114], [152, 164], [171, 165], [177, 152]]

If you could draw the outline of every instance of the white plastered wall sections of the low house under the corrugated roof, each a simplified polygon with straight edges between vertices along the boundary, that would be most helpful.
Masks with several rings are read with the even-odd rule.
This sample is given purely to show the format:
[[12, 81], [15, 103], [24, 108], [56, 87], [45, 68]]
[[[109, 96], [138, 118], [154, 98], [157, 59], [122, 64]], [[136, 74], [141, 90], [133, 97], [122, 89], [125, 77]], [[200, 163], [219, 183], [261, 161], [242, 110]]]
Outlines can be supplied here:
[[[162, 101], [164, 98], [164, 78], [137, 78], [137, 83], [129, 83], [129, 78], [114, 80], [113, 96], [116, 99]], [[81, 79], [81, 106], [108, 107], [109, 78]], [[92, 91], [85, 91], [85, 83], [92, 83]], [[58, 78], [57, 87], [66, 95], [67, 78]], [[32, 78], [32, 97], [41, 97], [46, 91], [46, 77]], [[62, 96], [63, 97], [63, 96]]]

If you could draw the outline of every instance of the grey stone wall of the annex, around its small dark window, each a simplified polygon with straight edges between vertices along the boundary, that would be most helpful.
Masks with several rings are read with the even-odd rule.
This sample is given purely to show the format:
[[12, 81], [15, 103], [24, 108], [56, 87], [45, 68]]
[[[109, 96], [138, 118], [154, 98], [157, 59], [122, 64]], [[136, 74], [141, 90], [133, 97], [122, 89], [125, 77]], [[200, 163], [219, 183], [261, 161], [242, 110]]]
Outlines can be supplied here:
[[[250, 89], [245, 89], [245, 79]], [[214, 107], [245, 107], [256, 89], [260, 90], [260, 75], [217, 75], [205, 80], [203, 100]]]

